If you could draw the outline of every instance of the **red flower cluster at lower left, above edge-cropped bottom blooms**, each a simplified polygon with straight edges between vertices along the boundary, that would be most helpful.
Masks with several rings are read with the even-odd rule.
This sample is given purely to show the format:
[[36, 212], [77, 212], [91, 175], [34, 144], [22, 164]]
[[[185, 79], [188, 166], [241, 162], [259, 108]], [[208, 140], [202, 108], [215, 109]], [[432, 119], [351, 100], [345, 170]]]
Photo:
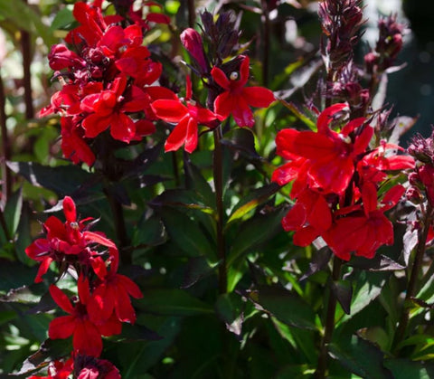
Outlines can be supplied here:
[[136, 313], [130, 297], [141, 298], [137, 284], [118, 274], [118, 248], [102, 232], [90, 232], [91, 218], [77, 220], [71, 197], [63, 199], [66, 221], [51, 216], [42, 224], [45, 238], [35, 240], [26, 254], [40, 261], [35, 282], [42, 281], [52, 261], [61, 273], [73, 271], [78, 277], [78, 297], [71, 299], [56, 285], [50, 294], [68, 316], [54, 318], [48, 336], [52, 339], [72, 336], [73, 355], [99, 357], [101, 336], [118, 335], [122, 322], [133, 324]]

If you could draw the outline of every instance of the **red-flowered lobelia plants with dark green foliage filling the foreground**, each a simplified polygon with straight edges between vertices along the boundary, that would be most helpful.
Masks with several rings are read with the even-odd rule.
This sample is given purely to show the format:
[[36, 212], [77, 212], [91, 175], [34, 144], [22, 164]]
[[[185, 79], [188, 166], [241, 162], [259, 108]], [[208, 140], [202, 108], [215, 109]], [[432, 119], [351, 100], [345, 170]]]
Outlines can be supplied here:
[[[172, 17], [169, 3], [62, 11], [64, 43], [48, 53], [60, 88], [40, 116], [63, 158], [8, 165], [47, 198], [33, 209], [63, 216], [32, 216], [43, 236], [20, 255], [9, 215], [30, 206], [5, 194], [2, 275], [31, 280], [1, 294], [2, 374], [433, 373], [434, 135], [400, 147], [414, 120], [402, 128], [382, 101], [404, 26], [382, 18], [359, 64], [362, 2], [319, 2], [319, 53], [282, 72], [273, 28], [298, 2], [196, 14], [189, 1]], [[304, 98], [282, 88], [293, 77]]]

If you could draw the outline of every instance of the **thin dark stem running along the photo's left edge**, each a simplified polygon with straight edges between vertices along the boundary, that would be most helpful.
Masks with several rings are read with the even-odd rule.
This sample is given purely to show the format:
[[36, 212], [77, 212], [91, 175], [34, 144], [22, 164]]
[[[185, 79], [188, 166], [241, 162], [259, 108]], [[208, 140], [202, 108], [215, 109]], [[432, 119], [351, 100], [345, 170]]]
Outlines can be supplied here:
[[[0, 67], [1, 70], [1, 67]], [[5, 86], [3, 83], [2, 74], [0, 71], [0, 128], [2, 131], [2, 171], [3, 171], [3, 198], [2, 203], [6, 204], [7, 199], [12, 194], [12, 173], [6, 162], [11, 159], [11, 144], [6, 128], [6, 112], [5, 112]]]

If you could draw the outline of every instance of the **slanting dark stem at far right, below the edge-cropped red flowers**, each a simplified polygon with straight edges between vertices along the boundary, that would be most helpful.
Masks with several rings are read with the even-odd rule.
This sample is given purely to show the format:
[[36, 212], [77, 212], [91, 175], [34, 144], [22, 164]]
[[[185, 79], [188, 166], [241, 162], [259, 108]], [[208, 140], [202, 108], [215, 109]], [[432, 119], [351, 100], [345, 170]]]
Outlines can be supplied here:
[[398, 351], [398, 345], [401, 343], [402, 339], [404, 338], [405, 331], [409, 325], [409, 321], [410, 321], [409, 305], [410, 305], [411, 298], [413, 298], [416, 295], [418, 277], [421, 273], [423, 256], [424, 256], [425, 250], [426, 250], [427, 238], [428, 238], [428, 233], [429, 233], [429, 226], [431, 225], [432, 220], [433, 220], [433, 214], [432, 213], [433, 213], [433, 209], [432, 209], [432, 206], [429, 204], [427, 206], [425, 218], [423, 220], [422, 234], [420, 236], [418, 248], [416, 250], [416, 255], [414, 257], [414, 261], [413, 261], [413, 264], [411, 267], [410, 280], [409, 280], [409, 283], [407, 284], [407, 292], [405, 294], [404, 306], [402, 308], [402, 313], [401, 313], [401, 319], [400, 319], [400, 322], [398, 323], [398, 327], [396, 329], [395, 336], [393, 337], [392, 346], [393, 346], [393, 349], [395, 351]]

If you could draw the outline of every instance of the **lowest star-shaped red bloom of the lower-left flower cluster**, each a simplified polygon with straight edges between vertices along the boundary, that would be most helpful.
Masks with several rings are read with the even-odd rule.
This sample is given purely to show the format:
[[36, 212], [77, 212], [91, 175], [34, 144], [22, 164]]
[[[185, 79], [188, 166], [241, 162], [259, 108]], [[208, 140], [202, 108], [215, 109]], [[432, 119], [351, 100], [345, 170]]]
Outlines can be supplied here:
[[90, 298], [89, 281], [80, 277], [78, 288], [79, 301], [73, 306], [61, 289], [53, 284], [50, 286], [52, 298], [69, 316], [54, 318], [48, 328], [48, 336], [52, 339], [72, 336], [72, 346], [75, 353], [99, 356], [102, 351], [101, 335], [117, 335], [122, 326], [118, 320], [113, 319], [108, 321], [108, 325], [95, 325], [90, 320], [87, 309]]

